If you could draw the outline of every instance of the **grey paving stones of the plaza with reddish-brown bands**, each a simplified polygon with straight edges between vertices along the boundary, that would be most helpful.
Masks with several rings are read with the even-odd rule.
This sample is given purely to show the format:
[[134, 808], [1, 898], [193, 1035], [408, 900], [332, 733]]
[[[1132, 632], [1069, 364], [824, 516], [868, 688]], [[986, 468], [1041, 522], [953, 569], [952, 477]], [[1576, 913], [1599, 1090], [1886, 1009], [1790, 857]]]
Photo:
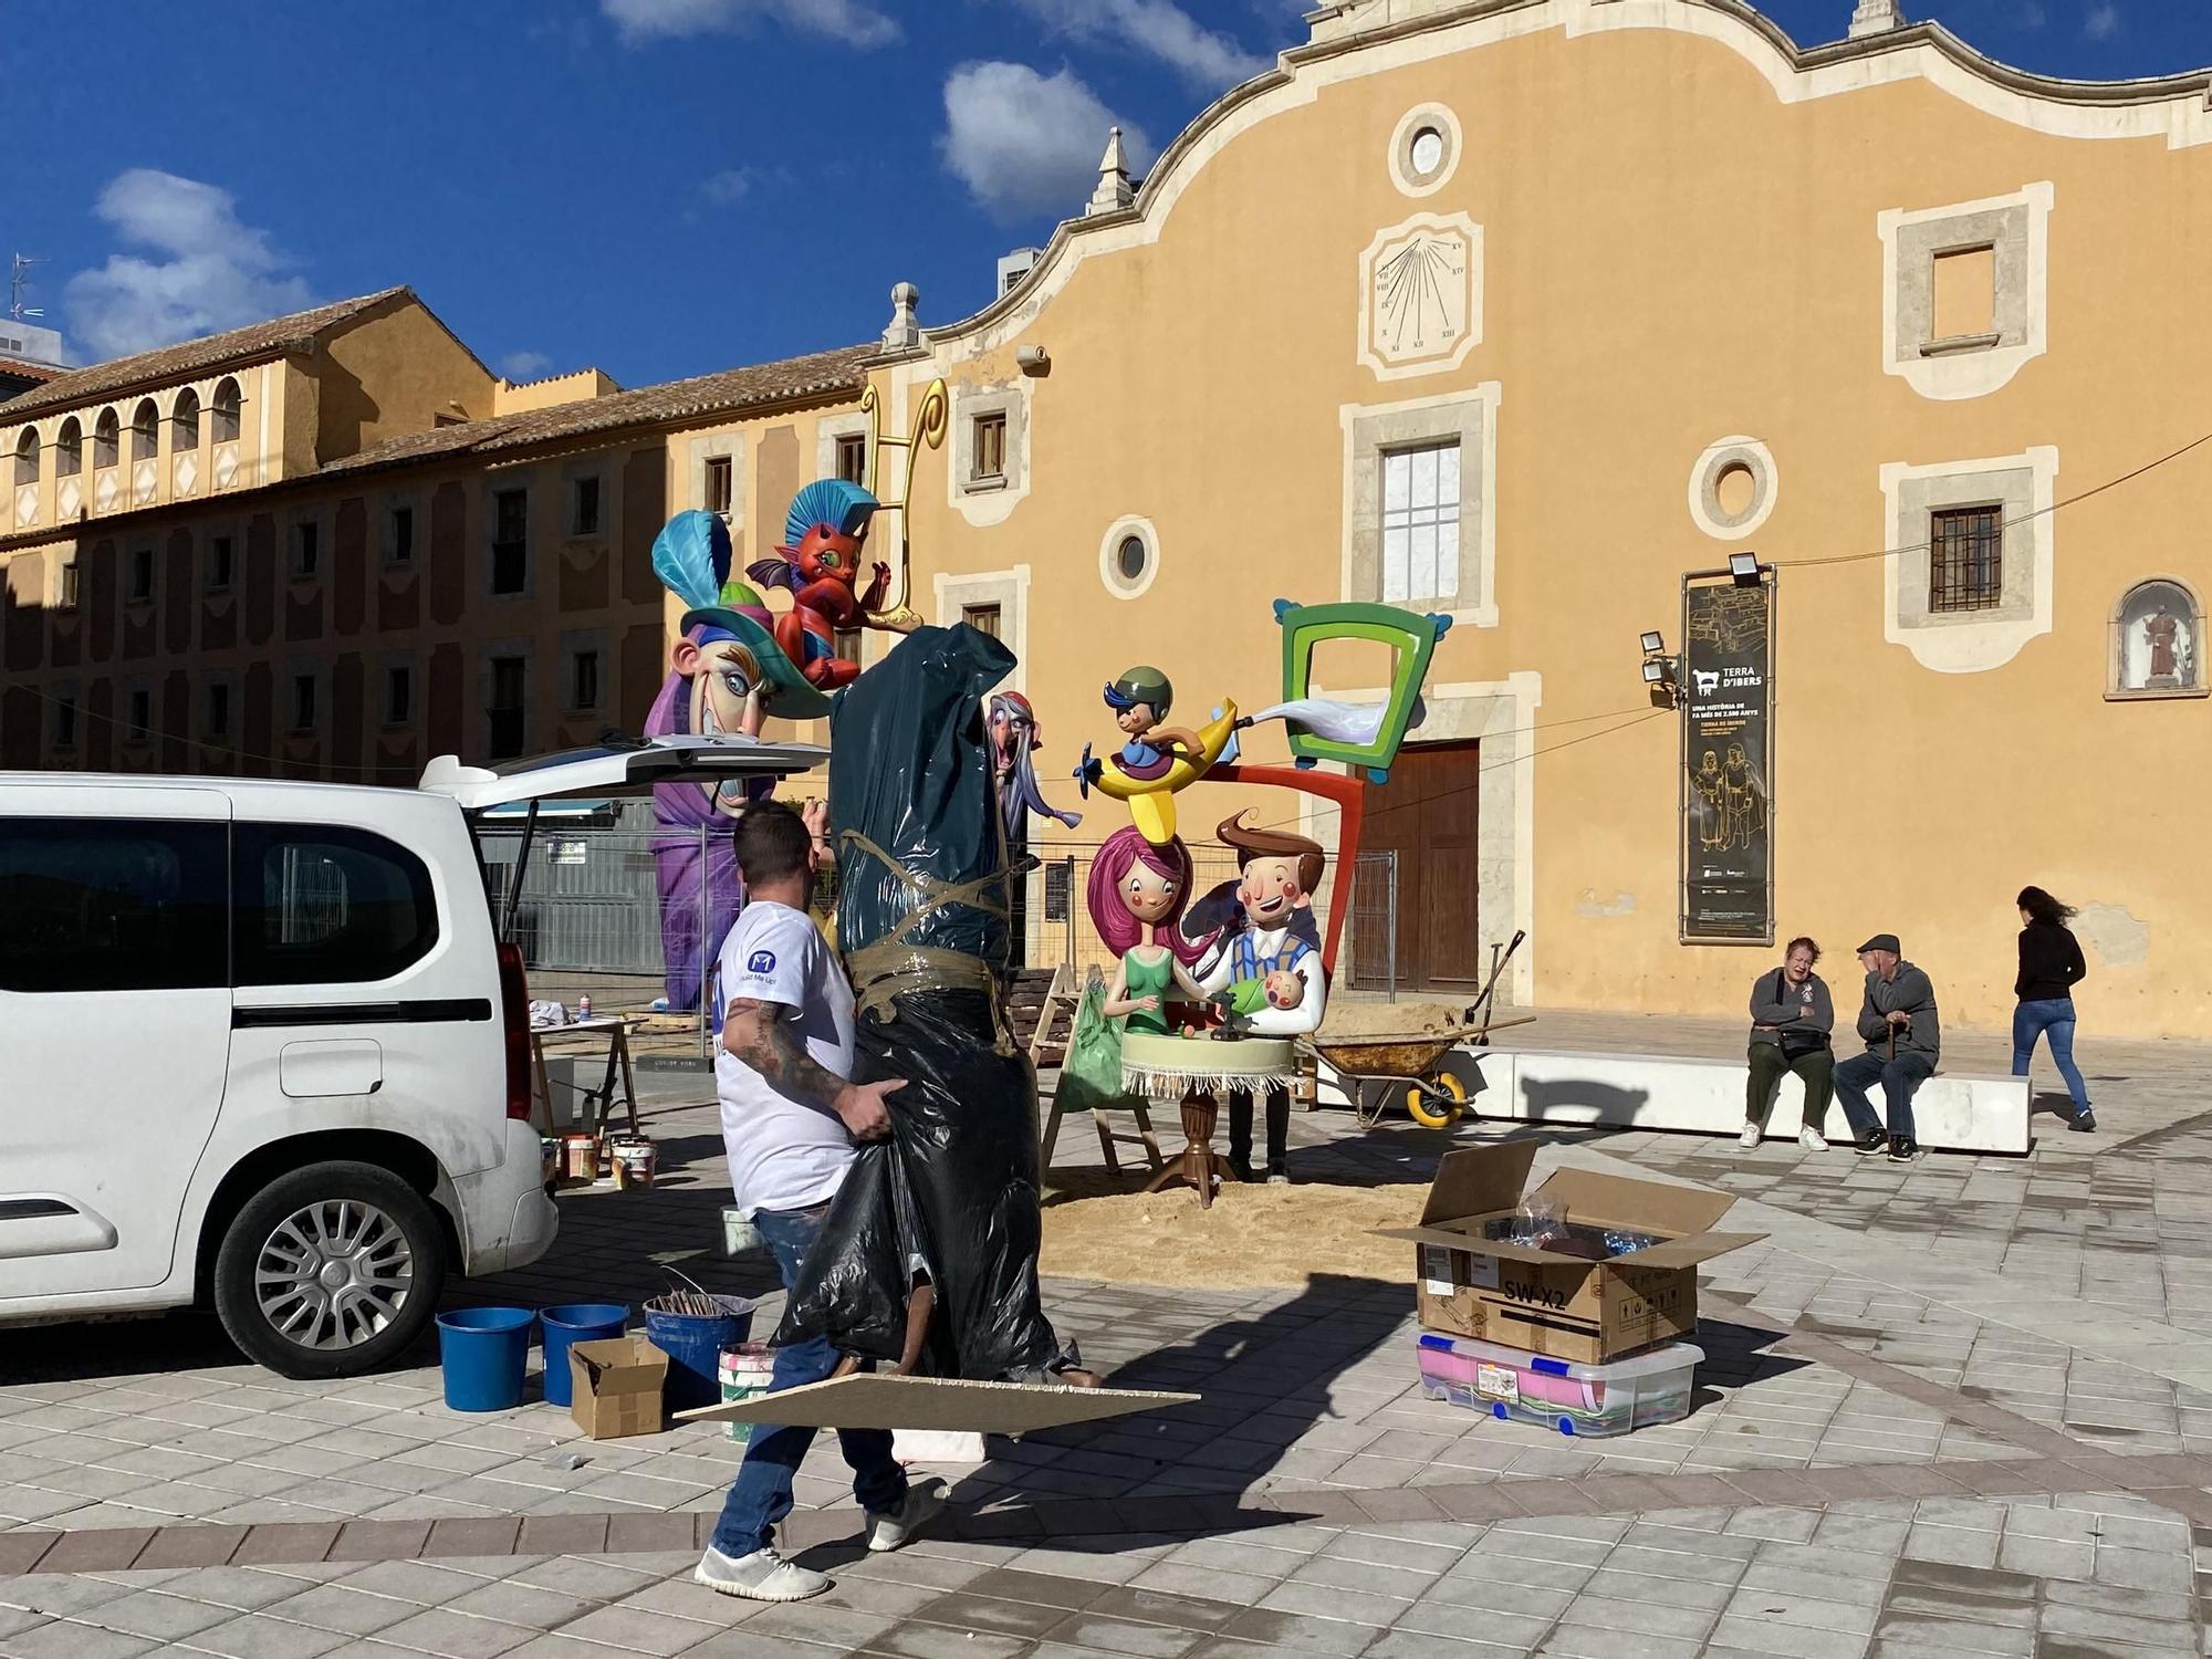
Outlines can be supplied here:
[[[591, 1444], [535, 1400], [449, 1413], [429, 1349], [296, 1385], [201, 1318], [9, 1332], [0, 1655], [2208, 1655], [2208, 1060], [2084, 1044], [2108, 1133], [2026, 1159], [1540, 1137], [1540, 1164], [1710, 1183], [1772, 1232], [1705, 1279], [1697, 1411], [1619, 1440], [1420, 1398], [1407, 1285], [1051, 1281], [1093, 1363], [1206, 1400], [993, 1442], [896, 1555], [854, 1551], [818, 1447], [790, 1544], [838, 1584], [796, 1608], [688, 1582], [734, 1469], [717, 1429]], [[564, 1197], [549, 1261], [456, 1298], [637, 1301], [679, 1267], [772, 1321], [763, 1272], [708, 1250], [726, 1181], [695, 1091], [650, 1113], [655, 1192]], [[1498, 1133], [1310, 1115], [1292, 1161], [1420, 1181]], [[1064, 1155], [1095, 1161], [1082, 1139]]]

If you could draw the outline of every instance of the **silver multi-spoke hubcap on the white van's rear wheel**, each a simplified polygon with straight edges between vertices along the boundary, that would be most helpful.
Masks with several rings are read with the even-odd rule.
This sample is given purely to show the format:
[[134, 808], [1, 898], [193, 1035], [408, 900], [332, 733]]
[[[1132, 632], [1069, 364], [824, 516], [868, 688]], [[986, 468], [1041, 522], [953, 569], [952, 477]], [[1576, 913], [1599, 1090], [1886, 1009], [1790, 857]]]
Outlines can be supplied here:
[[261, 1318], [301, 1347], [361, 1347], [400, 1316], [411, 1292], [407, 1234], [358, 1199], [294, 1210], [254, 1263]]

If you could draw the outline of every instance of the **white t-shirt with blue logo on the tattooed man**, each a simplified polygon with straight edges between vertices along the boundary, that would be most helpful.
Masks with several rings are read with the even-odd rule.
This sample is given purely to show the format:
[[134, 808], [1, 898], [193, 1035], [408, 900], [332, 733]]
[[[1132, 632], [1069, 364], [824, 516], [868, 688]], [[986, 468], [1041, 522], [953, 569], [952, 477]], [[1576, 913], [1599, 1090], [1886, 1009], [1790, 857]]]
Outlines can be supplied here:
[[[765, 900], [745, 905], [723, 940], [719, 978], [723, 1024], [737, 998], [779, 1002], [814, 1064], [852, 1075], [852, 989], [805, 911]], [[721, 1046], [714, 1048], [714, 1093], [730, 1192], [748, 1217], [807, 1210], [845, 1183], [852, 1135], [827, 1106], [768, 1082]]]

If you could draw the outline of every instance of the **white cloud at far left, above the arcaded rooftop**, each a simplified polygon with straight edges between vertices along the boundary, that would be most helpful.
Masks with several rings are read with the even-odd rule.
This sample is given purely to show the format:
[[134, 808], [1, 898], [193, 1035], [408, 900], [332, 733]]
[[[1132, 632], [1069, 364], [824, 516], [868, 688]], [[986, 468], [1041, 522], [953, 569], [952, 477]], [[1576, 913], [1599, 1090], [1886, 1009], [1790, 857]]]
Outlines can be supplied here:
[[239, 221], [228, 190], [175, 173], [119, 173], [93, 212], [117, 239], [150, 254], [108, 254], [62, 290], [69, 327], [91, 356], [111, 358], [259, 323], [310, 305], [307, 283]]

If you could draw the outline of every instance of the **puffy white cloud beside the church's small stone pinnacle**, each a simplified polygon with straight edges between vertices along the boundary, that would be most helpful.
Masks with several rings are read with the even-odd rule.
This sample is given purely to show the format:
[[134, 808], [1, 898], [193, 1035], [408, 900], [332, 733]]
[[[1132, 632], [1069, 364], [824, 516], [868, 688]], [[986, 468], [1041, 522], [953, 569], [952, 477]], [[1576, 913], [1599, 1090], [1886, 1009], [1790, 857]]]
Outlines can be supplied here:
[[1000, 217], [1051, 210], [1073, 217], [1097, 186], [1106, 128], [1121, 128], [1128, 164], [1152, 164], [1152, 144], [1117, 122], [1075, 71], [960, 64], [945, 77], [945, 166]]

